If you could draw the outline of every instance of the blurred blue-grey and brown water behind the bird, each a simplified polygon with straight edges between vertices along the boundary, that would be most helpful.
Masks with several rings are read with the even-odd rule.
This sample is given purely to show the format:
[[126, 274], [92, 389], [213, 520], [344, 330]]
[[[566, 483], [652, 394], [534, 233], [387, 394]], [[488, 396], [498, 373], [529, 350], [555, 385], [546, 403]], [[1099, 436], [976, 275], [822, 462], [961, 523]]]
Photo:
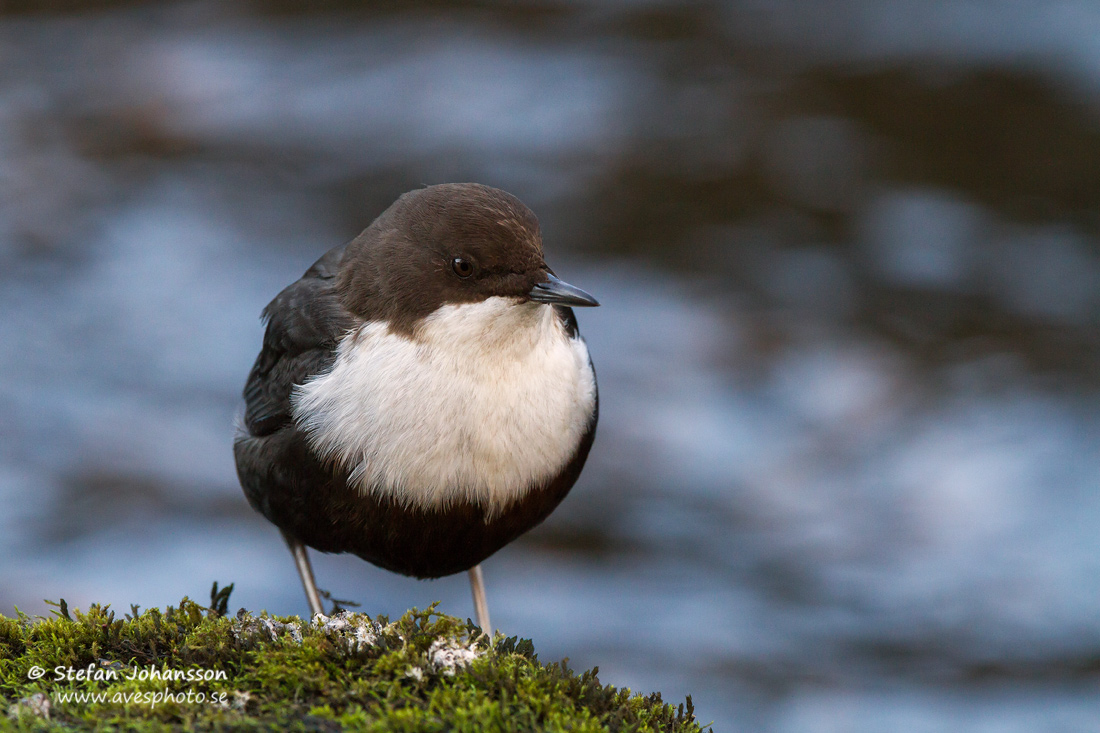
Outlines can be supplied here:
[[479, 180], [604, 304], [501, 628], [717, 730], [1100, 731], [1100, 3], [309, 4], [0, 3], [0, 612], [305, 613], [232, 466], [260, 310]]

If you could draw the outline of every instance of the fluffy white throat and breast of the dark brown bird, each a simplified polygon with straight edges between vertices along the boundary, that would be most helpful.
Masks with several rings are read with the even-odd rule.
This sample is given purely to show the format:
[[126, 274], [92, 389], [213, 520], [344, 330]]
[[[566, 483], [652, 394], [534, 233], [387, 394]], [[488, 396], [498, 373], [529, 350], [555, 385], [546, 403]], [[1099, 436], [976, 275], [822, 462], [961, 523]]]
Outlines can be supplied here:
[[366, 324], [294, 415], [362, 492], [490, 512], [558, 473], [595, 406], [588, 350], [550, 306], [494, 297], [443, 306], [410, 338]]

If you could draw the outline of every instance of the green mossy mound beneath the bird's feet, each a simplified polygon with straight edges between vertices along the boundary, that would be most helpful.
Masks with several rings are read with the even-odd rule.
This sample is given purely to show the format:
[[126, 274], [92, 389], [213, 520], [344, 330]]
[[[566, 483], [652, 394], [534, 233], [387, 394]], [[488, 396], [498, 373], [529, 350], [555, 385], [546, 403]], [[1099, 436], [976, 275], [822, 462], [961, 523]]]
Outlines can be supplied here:
[[597, 669], [543, 665], [529, 641], [490, 639], [435, 606], [310, 624], [229, 617], [226, 589], [211, 597], [121, 619], [64, 601], [51, 619], [0, 615], [0, 730], [700, 730], [691, 698], [674, 708], [602, 685]]

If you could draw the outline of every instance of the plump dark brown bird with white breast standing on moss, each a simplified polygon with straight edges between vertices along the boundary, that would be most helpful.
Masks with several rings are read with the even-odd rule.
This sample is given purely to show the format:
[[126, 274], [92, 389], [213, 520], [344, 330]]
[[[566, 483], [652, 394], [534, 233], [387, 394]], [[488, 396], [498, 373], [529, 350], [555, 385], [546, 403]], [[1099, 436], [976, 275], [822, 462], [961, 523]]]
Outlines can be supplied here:
[[311, 614], [307, 548], [413, 578], [469, 573], [559, 505], [595, 438], [596, 374], [539, 220], [482, 184], [398, 197], [264, 308], [233, 440]]

